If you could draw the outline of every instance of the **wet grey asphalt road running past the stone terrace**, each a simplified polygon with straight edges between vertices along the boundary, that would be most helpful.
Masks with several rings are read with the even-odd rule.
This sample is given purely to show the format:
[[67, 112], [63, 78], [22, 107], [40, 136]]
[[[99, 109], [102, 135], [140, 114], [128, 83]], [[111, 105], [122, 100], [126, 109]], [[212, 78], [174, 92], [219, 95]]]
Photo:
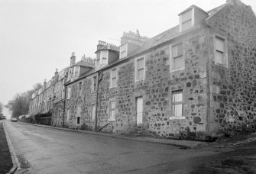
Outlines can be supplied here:
[[5, 127], [21, 164], [18, 173], [189, 173], [216, 153], [21, 122], [5, 121]]

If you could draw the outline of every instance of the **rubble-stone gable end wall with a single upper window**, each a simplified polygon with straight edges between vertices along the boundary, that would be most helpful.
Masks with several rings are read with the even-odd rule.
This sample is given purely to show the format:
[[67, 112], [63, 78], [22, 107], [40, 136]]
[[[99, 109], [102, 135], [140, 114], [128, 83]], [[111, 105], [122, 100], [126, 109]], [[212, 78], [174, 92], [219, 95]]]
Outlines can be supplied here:
[[215, 34], [225, 37], [228, 67], [218, 66], [211, 47], [211, 131], [256, 127], [256, 18], [251, 7], [233, 1], [208, 21]]

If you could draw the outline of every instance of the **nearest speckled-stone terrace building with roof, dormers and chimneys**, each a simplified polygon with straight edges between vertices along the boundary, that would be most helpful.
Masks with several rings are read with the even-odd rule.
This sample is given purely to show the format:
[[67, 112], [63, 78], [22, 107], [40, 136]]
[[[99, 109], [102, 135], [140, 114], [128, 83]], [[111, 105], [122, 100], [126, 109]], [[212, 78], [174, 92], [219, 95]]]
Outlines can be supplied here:
[[239, 0], [210, 11], [191, 5], [179, 18], [152, 38], [137, 31], [125, 32], [120, 47], [99, 41], [96, 68], [65, 84], [63, 124], [191, 139], [255, 128], [251, 7]]

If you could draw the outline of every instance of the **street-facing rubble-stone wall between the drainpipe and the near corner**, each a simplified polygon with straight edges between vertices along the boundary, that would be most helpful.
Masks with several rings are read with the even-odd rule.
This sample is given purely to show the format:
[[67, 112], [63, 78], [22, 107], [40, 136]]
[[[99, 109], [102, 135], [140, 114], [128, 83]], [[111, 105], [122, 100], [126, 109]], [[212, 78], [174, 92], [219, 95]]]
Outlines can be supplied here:
[[[170, 71], [170, 45], [183, 43], [185, 69]], [[116, 88], [109, 88], [110, 71], [103, 73], [99, 87], [99, 123], [103, 131], [132, 133], [136, 127], [136, 97], [143, 97], [143, 131], [158, 137], [196, 136], [206, 131], [208, 119], [206, 63], [209, 57], [207, 29], [175, 40], [144, 55], [145, 79], [135, 82], [134, 62], [119, 65]], [[115, 69], [113, 67], [112, 69]], [[171, 94], [183, 90], [185, 119], [170, 119]], [[115, 121], [109, 121], [109, 103], [116, 101]], [[191, 134], [192, 133], [192, 134]]]

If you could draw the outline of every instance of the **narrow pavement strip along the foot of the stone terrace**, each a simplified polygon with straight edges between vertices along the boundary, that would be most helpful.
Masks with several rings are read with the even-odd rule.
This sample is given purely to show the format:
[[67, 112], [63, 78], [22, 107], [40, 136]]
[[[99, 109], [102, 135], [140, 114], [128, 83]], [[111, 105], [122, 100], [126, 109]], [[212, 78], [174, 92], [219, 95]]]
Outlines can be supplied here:
[[[21, 122], [22, 124], [29, 124]], [[161, 144], [167, 144], [172, 145], [175, 147], [180, 147], [183, 149], [193, 149], [198, 147], [206, 147], [209, 143], [203, 142], [203, 141], [195, 141], [195, 140], [174, 140], [174, 139], [164, 139], [164, 138], [154, 138], [154, 137], [138, 137], [138, 136], [132, 136], [130, 134], [105, 134], [100, 132], [94, 132], [89, 130], [74, 130], [70, 128], [62, 128], [62, 127], [52, 127], [42, 124], [30, 124], [37, 127], [48, 127], [58, 130], [66, 130], [66, 131], [72, 131], [72, 132], [79, 132], [83, 134], [93, 134], [93, 135], [99, 135], [99, 136], [105, 136], [105, 137], [114, 137], [124, 140], [138, 140], [138, 141], [144, 141], [149, 143], [161, 143]]]

